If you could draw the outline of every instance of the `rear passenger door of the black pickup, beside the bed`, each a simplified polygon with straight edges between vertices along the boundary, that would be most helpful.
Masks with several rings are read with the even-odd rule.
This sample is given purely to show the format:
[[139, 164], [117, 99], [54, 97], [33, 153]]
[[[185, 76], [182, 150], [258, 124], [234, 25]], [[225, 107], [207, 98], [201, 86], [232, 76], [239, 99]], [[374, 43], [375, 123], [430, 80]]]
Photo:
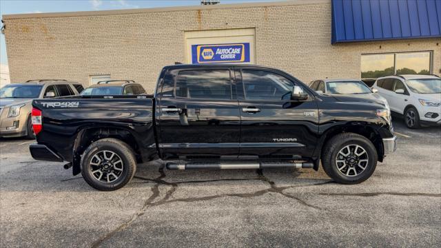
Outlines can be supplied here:
[[165, 72], [158, 99], [163, 159], [238, 156], [240, 114], [231, 68], [183, 68]]

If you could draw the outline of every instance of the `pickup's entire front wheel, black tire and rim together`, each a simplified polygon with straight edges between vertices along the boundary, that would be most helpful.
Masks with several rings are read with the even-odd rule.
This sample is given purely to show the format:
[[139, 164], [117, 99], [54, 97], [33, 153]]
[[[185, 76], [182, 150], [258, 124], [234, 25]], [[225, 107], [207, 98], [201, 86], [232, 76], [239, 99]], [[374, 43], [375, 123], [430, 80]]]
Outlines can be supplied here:
[[[358, 158], [354, 159], [353, 163], [356, 163], [356, 165], [352, 163], [351, 165], [347, 165], [346, 162], [341, 162], [342, 160], [338, 160], [338, 158], [345, 158], [344, 156], [341, 156], [339, 152], [342, 152], [343, 149], [345, 149], [346, 147], [349, 147], [348, 149], [345, 149], [345, 151], [347, 151], [349, 155], [346, 156], [343, 161], [349, 161], [350, 158], [353, 158], [353, 152], [351, 153], [350, 150], [351, 147], [355, 147], [355, 153], [361, 153], [362, 149], [357, 146], [362, 147], [362, 149], [365, 150], [365, 153], [360, 154]], [[375, 146], [373, 145], [373, 143], [371, 143], [371, 141], [369, 141], [369, 139], [359, 134], [338, 134], [332, 137], [326, 143], [322, 151], [322, 167], [325, 170], [326, 174], [337, 183], [362, 183], [373, 174], [377, 166], [378, 154]], [[366, 162], [357, 162], [366, 159]], [[362, 167], [359, 167], [358, 165], [365, 166], [365, 169], [362, 169]], [[347, 166], [346, 171], [344, 166]], [[357, 174], [357, 172], [359, 172], [359, 174]]]

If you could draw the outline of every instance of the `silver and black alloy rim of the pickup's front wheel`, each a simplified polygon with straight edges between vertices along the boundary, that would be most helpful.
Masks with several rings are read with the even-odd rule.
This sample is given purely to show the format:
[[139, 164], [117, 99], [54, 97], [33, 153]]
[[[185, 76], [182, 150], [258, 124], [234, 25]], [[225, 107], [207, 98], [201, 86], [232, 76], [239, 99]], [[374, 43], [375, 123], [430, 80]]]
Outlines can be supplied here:
[[360, 145], [347, 145], [337, 154], [338, 171], [345, 176], [358, 176], [365, 171], [369, 157]]

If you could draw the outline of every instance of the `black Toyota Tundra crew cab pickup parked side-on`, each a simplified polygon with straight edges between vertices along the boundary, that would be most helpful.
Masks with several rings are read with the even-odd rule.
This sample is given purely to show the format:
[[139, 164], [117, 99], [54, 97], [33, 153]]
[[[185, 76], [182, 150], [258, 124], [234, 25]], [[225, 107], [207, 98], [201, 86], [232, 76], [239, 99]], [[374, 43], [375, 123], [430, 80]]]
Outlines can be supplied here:
[[130, 182], [136, 163], [167, 169], [318, 169], [360, 183], [396, 149], [387, 103], [319, 95], [256, 65], [170, 65], [154, 96], [73, 96], [32, 103], [32, 157], [66, 161], [100, 190]]

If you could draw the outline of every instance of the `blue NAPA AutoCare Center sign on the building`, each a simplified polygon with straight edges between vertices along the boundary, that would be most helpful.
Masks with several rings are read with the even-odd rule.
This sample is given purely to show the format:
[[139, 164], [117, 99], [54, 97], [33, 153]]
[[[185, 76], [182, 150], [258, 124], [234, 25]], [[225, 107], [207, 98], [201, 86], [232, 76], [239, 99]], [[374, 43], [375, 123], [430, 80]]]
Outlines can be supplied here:
[[249, 43], [192, 45], [192, 63], [249, 62]]

